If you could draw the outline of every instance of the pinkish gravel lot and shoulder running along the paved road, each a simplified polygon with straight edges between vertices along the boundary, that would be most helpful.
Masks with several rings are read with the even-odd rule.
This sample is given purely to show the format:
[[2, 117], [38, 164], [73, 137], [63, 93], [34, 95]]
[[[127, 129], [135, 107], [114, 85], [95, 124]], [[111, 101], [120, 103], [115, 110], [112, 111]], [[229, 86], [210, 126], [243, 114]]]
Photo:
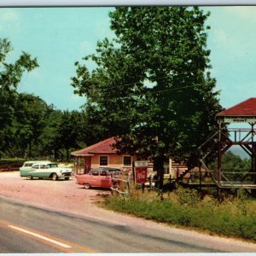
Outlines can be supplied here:
[[96, 201], [101, 200], [102, 195], [110, 195], [110, 191], [84, 189], [76, 183], [75, 177], [71, 177], [67, 181], [27, 180], [26, 177], [20, 177], [20, 172], [0, 172], [0, 195], [26, 205], [68, 212], [108, 223], [127, 225], [136, 229], [150, 227], [150, 229], [172, 232], [172, 235], [180, 236], [182, 234], [188, 236], [190, 240], [191, 237], [194, 237], [197, 241], [202, 239], [202, 241], [211, 243], [212, 246], [218, 245], [220, 249], [226, 249], [231, 244], [235, 244], [237, 249], [235, 251], [230, 249], [230, 252], [256, 252], [255, 243], [209, 236], [194, 230], [172, 228], [166, 224], [157, 224], [153, 221], [134, 218], [97, 207]]

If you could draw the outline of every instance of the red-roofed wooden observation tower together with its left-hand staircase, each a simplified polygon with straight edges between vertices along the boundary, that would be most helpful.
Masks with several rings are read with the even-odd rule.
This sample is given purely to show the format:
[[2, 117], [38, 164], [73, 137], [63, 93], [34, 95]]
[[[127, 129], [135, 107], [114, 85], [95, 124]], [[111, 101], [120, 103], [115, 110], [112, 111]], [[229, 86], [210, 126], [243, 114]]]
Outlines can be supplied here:
[[[223, 110], [216, 115], [218, 131], [199, 147], [201, 150], [201, 166], [207, 176], [212, 177], [212, 186], [220, 189], [246, 189], [256, 195], [256, 98], [247, 99], [232, 108]], [[231, 128], [231, 126], [235, 126]], [[202, 150], [205, 146], [207, 149]], [[218, 146], [218, 147], [216, 147]], [[224, 154], [231, 148], [242, 148], [251, 159], [247, 170], [224, 169]], [[242, 151], [241, 150], [241, 151]], [[206, 153], [202, 153], [206, 152]], [[207, 156], [218, 152], [218, 166], [215, 170], [207, 167]], [[200, 167], [201, 171], [201, 167]], [[200, 187], [203, 184], [200, 178]], [[208, 184], [209, 185], [209, 184]]]

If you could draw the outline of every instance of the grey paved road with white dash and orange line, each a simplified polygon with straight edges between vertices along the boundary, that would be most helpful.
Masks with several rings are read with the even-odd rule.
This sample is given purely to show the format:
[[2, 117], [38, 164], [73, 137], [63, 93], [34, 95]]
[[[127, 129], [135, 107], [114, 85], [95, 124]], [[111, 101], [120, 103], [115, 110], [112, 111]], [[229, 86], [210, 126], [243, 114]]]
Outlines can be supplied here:
[[[28, 207], [0, 198], [0, 253], [225, 252], [196, 237]], [[239, 247], [236, 247], [236, 251]], [[240, 247], [240, 251], [245, 248]], [[239, 251], [239, 250], [238, 250]], [[253, 252], [253, 250], [251, 251]]]

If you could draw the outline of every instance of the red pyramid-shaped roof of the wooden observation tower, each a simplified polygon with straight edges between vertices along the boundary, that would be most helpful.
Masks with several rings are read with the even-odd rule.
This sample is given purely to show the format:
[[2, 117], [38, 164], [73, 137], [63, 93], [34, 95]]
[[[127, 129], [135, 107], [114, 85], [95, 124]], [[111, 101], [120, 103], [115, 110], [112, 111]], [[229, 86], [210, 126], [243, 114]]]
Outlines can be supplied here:
[[249, 98], [232, 108], [217, 113], [216, 117], [224, 116], [256, 116], [256, 98]]

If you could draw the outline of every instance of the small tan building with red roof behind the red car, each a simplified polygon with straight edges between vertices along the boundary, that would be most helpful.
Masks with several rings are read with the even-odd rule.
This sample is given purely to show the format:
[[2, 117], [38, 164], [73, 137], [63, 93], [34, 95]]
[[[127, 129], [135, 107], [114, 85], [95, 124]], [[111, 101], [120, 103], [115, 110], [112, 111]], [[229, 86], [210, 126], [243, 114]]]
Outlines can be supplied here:
[[132, 162], [136, 156], [130, 154], [119, 154], [113, 148], [114, 138], [108, 138], [102, 142], [72, 152], [75, 157], [75, 173], [87, 173], [91, 168], [115, 167], [125, 172], [132, 171]]

